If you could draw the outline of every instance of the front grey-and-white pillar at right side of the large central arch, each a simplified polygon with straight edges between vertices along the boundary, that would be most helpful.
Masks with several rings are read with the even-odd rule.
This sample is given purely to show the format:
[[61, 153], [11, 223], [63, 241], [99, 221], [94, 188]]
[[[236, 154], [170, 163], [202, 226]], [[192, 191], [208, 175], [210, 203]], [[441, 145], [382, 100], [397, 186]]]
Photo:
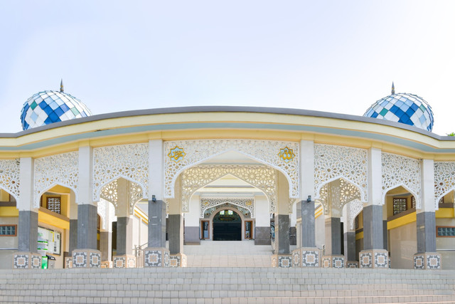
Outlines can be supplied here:
[[[321, 253], [316, 248], [314, 226], [314, 141], [300, 142], [301, 248], [292, 251], [292, 266], [319, 267]], [[299, 204], [299, 203], [298, 203]]]

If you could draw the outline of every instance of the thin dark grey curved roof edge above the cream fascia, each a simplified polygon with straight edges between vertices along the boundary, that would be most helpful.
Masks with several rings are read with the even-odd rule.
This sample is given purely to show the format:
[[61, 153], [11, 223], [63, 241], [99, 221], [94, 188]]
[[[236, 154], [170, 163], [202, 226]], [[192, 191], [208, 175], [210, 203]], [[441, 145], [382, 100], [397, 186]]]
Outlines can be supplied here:
[[120, 117], [134, 117], [144, 115], [160, 115], [160, 114], [180, 114], [180, 113], [196, 113], [196, 112], [251, 112], [251, 113], [268, 113], [268, 114], [282, 114], [282, 115], [299, 115], [311, 117], [333, 118], [338, 120], [351, 120], [356, 122], [369, 122], [377, 125], [387, 125], [390, 127], [397, 127], [403, 130], [410, 130], [422, 135], [432, 137], [436, 140], [449, 140], [455, 141], [455, 137], [441, 136], [427, 130], [422, 130], [419, 127], [405, 125], [400, 122], [392, 122], [389, 120], [382, 120], [378, 118], [363, 117], [358, 115], [340, 114], [334, 112], [322, 112], [316, 110], [303, 110], [293, 108], [266, 108], [266, 107], [237, 107], [225, 105], [209, 105], [209, 106], [191, 106], [191, 107], [176, 107], [176, 108], [154, 108], [145, 110], [129, 110], [122, 112], [111, 112], [105, 114], [92, 115], [88, 117], [75, 118], [72, 120], [65, 120], [63, 122], [53, 122], [50, 125], [43, 125], [41, 127], [34, 127], [32, 129], [23, 130], [16, 133], [0, 133], [2, 138], [17, 138], [23, 135], [30, 135], [44, 130], [51, 130], [58, 127], [68, 125], [77, 125], [84, 122], [94, 122], [97, 120], [108, 120]]

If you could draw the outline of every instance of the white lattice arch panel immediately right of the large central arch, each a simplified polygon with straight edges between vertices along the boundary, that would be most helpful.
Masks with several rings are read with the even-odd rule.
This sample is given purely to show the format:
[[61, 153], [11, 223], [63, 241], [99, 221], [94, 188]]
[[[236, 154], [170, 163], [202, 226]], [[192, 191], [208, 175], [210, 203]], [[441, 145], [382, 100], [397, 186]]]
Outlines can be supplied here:
[[[314, 192], [316, 199], [321, 199], [319, 196], [324, 184], [342, 177], [359, 190], [360, 200], [368, 201], [367, 172], [367, 150], [335, 145], [314, 145]], [[347, 190], [346, 193], [348, 193]]]

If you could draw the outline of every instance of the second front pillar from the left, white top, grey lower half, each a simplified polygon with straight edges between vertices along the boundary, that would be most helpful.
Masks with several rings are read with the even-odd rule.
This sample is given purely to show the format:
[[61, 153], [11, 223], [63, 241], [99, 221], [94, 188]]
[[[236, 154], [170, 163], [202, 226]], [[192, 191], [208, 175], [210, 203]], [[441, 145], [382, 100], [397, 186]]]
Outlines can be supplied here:
[[93, 201], [93, 149], [79, 148], [79, 182], [77, 201], [77, 248], [73, 250], [73, 267], [100, 268], [97, 250], [97, 205]]

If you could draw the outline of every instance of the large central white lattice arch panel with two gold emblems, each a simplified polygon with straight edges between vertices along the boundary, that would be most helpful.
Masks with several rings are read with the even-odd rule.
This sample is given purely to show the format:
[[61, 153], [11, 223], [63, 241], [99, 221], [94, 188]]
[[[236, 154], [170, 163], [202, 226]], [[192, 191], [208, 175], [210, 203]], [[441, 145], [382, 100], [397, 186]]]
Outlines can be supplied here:
[[[298, 142], [272, 140], [181, 140], [164, 142], [164, 153], [171, 152], [176, 146], [184, 150], [186, 155], [179, 162], [173, 162], [169, 157], [164, 158], [165, 198], [173, 198], [175, 181], [185, 169], [228, 151], [245, 154], [251, 159], [278, 169], [288, 179], [289, 197], [299, 198]], [[289, 162], [284, 162], [279, 157], [279, 152], [283, 147], [291, 149], [295, 155]]]

